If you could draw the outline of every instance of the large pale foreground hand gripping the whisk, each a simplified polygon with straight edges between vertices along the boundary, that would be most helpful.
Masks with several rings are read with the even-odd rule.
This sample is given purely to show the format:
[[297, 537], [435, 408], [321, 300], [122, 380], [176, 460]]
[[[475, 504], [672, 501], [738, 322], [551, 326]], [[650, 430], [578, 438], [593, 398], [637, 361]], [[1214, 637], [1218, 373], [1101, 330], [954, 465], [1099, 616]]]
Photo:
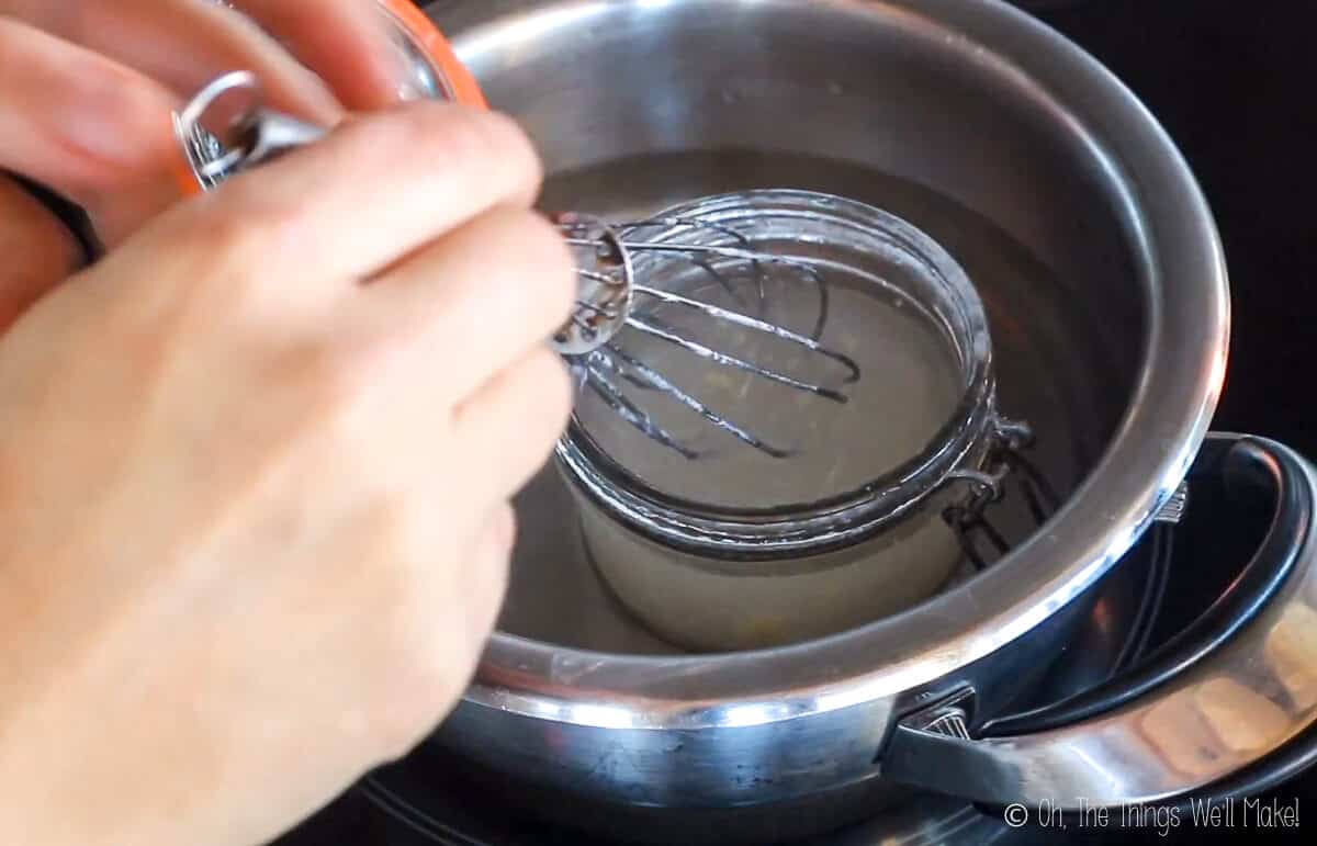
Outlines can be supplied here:
[[354, 120], [0, 336], [0, 842], [269, 839], [454, 704], [568, 415], [537, 167]]

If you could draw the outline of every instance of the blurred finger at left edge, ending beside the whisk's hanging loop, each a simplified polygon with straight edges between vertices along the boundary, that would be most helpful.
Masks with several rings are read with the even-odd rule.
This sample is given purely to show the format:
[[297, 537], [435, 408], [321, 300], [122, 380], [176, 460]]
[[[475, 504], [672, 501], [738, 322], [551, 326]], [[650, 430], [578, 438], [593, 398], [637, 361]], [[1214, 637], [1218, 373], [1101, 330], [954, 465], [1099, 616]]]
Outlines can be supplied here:
[[107, 244], [175, 196], [161, 166], [176, 155], [174, 103], [129, 67], [0, 17], [0, 167], [87, 208]]

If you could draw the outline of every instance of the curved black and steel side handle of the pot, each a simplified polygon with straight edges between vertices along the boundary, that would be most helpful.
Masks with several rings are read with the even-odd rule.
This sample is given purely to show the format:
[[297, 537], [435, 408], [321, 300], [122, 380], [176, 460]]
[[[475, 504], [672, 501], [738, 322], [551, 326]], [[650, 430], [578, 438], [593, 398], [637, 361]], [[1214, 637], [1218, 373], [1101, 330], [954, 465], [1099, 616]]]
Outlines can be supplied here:
[[1162, 803], [1317, 725], [1317, 468], [1271, 440], [1213, 434], [1196, 478], [1276, 506], [1247, 568], [1191, 629], [1148, 665], [1033, 714], [975, 727], [973, 691], [960, 689], [897, 723], [884, 777], [1026, 813]]

